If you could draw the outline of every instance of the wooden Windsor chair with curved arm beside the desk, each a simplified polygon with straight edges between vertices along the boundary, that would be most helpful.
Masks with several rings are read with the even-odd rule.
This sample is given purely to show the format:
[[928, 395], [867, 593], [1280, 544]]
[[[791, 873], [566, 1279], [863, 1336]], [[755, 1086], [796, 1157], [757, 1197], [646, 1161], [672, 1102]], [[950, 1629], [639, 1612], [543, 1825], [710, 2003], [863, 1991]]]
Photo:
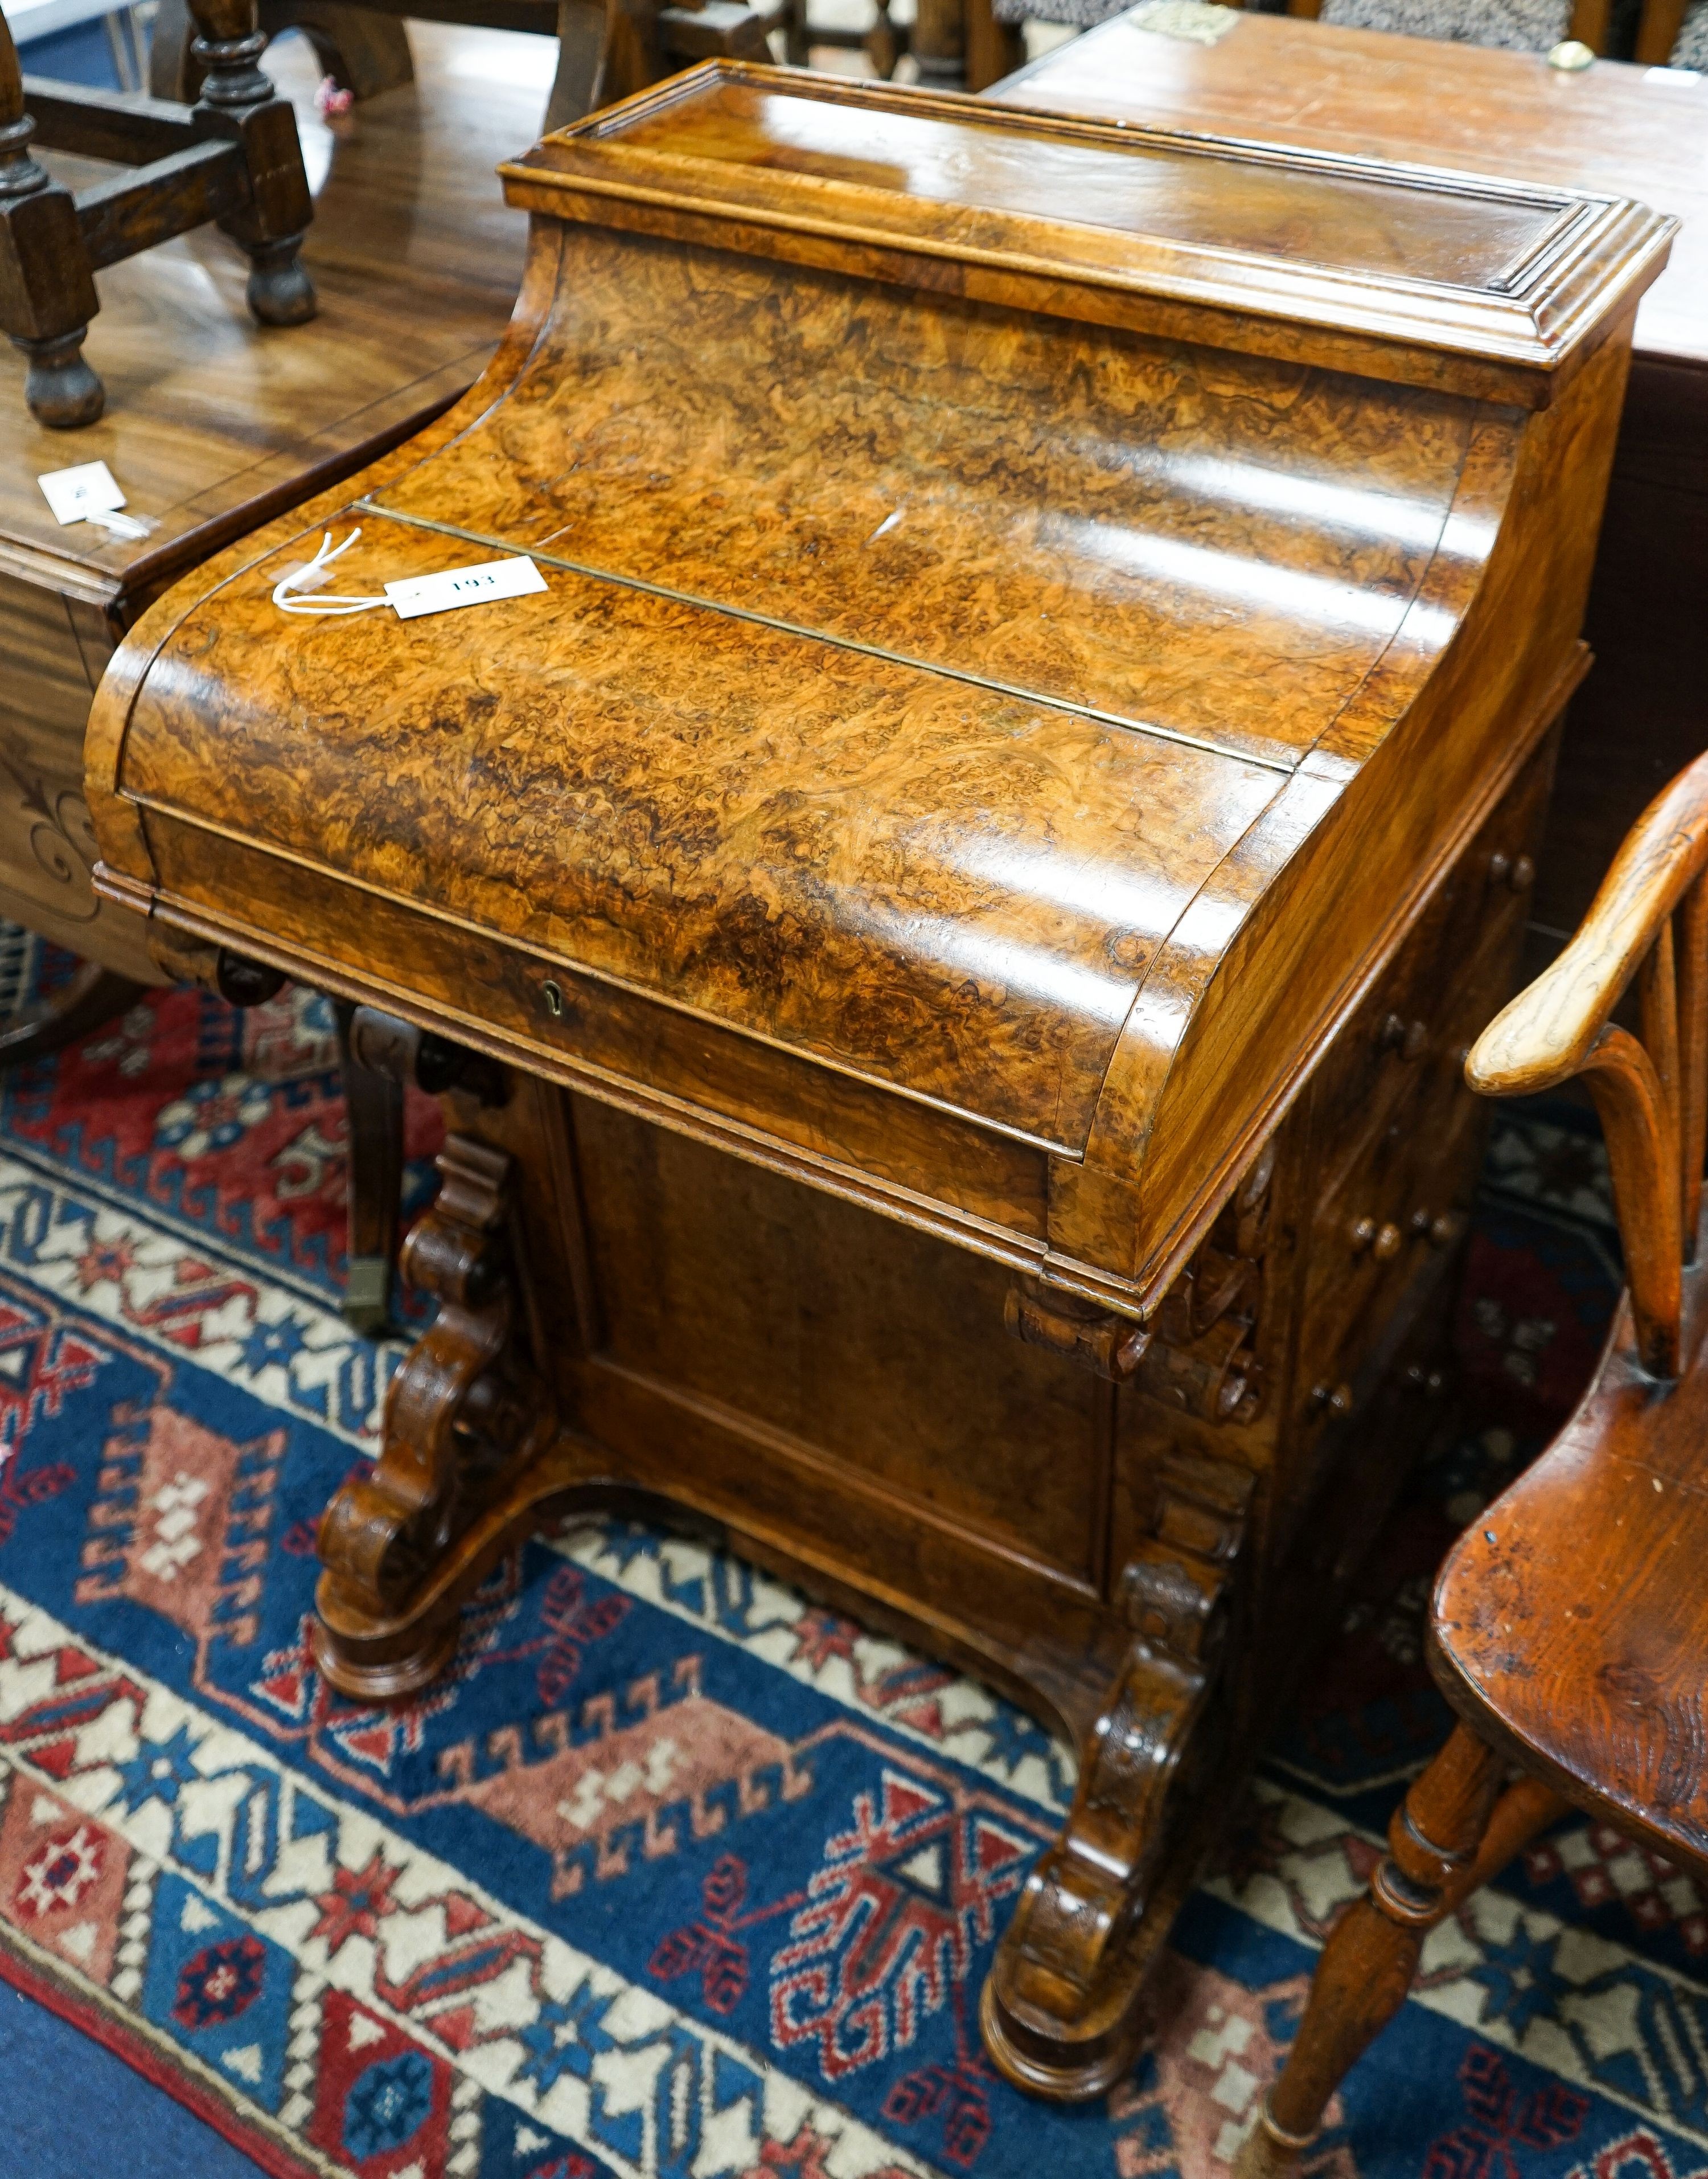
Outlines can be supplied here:
[[[1429, 1931], [1569, 1809], [1708, 1880], [1706, 865], [1699, 756], [1636, 821], [1553, 967], [1466, 1059], [1484, 1096], [1584, 1079], [1630, 1286], [1571, 1423], [1442, 1567], [1429, 1667], [1460, 1721], [1322, 1948], [1237, 2179], [1292, 2170], [1405, 2003]], [[1640, 1037], [1610, 1020], [1632, 981]]]

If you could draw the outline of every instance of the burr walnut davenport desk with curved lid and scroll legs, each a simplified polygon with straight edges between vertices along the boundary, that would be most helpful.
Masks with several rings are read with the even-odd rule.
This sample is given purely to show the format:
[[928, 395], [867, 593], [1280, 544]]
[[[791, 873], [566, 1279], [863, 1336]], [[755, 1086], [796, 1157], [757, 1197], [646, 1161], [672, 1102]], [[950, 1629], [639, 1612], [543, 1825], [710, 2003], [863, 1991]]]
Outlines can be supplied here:
[[[640, 1499], [989, 1673], [1081, 1789], [985, 2035], [1085, 2094], [1440, 1412], [1669, 222], [732, 63], [505, 185], [481, 384], [89, 726], [105, 898], [473, 1055], [320, 1658]], [[547, 588], [288, 621], [357, 525]]]

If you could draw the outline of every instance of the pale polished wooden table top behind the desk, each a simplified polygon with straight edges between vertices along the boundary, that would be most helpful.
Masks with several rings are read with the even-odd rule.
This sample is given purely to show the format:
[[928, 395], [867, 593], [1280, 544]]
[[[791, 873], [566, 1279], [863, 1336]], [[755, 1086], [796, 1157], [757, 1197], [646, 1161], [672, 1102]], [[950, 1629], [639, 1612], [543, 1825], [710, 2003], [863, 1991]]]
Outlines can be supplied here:
[[1203, 129], [1632, 196], [1684, 224], [1643, 301], [1636, 353], [1708, 366], [1708, 76], [1240, 15], [1211, 46], [1118, 15], [987, 92], [1161, 129]]

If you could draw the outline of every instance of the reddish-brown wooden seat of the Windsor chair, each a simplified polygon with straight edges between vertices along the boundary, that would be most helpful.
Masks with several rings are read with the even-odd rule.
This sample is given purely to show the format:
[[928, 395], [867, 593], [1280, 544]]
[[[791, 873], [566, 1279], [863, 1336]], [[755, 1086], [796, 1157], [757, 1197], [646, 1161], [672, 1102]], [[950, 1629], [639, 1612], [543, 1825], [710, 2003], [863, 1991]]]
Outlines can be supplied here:
[[1645, 1377], [1630, 1303], [1549, 1451], [1460, 1538], [1436, 1665], [1466, 1724], [1660, 1852], [1708, 1852], [1708, 1273], [1684, 1368]]

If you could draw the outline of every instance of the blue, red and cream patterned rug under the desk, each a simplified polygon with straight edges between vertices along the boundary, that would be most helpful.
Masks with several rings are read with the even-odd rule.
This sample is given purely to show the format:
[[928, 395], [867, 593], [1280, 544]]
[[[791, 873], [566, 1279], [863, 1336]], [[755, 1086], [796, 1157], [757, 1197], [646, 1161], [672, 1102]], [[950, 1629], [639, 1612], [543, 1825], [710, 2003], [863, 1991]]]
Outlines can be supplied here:
[[[35, 972], [11, 939], [0, 985]], [[431, 1107], [410, 1131], [425, 1192]], [[133, 2083], [139, 2151], [200, 2135], [172, 2133], [179, 2172], [1220, 2179], [1444, 1734], [1429, 1573], [1593, 1364], [1619, 1270], [1582, 1118], [1501, 1116], [1457, 1327], [1477, 1429], [1279, 1732], [1148, 2055], [1083, 2109], [978, 2046], [1072, 1787], [985, 1689], [621, 1523], [505, 1565], [414, 1708], [320, 1684], [314, 1519], [390, 1366], [338, 1316], [340, 1140], [301, 991], [152, 998], [0, 1083], [0, 1974], [61, 2037], [20, 2094], [50, 2064], [76, 2151], [11, 2179], [100, 2168], [72, 2072]], [[9, 2098], [46, 2048], [22, 2016]], [[1335, 2179], [1697, 2175], [1708, 1904], [1564, 1824], [1431, 1939], [1331, 2116], [1309, 2168]]]

